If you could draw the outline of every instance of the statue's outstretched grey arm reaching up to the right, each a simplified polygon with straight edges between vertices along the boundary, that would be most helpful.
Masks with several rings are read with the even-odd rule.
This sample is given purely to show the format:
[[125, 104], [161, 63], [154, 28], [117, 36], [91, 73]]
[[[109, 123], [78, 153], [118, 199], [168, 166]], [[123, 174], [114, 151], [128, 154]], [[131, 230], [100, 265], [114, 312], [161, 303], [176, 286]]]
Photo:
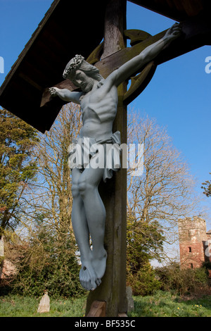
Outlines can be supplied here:
[[141, 51], [139, 55], [124, 63], [119, 69], [110, 74], [110, 79], [113, 80], [113, 84], [118, 86], [124, 82], [124, 80], [127, 80], [131, 75], [143, 67], [143, 65], [158, 56], [165, 45], [172, 42], [172, 40], [177, 39], [179, 35], [181, 35], [181, 27], [178, 23], [175, 23], [169, 30], [167, 30], [165, 36], [158, 40], [158, 42], [146, 47], [146, 49]]

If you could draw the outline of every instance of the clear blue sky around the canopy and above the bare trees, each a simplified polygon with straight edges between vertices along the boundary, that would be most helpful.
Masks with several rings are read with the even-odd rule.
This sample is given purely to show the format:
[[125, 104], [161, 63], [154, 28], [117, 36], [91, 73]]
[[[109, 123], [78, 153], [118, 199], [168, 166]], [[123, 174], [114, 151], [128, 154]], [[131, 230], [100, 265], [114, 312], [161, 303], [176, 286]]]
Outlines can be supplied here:
[[[0, 56], [4, 58], [0, 85], [52, 2], [0, 0]], [[128, 1], [127, 29], [145, 30], [155, 35], [173, 23]], [[159, 65], [148, 87], [129, 106], [156, 118], [159, 125], [167, 127], [174, 146], [181, 151], [198, 180], [200, 196], [203, 196], [201, 182], [211, 178], [211, 73], [205, 73], [207, 56], [211, 56], [211, 46]], [[203, 204], [210, 208], [211, 198], [205, 197]], [[210, 220], [211, 217], [207, 218], [209, 229]]]

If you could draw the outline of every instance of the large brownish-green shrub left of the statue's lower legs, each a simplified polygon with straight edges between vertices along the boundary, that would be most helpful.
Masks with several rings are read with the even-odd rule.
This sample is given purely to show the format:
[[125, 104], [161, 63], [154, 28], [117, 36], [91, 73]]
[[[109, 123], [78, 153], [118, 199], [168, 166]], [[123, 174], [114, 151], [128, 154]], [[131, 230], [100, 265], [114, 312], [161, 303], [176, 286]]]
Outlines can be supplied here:
[[[7, 292], [23, 296], [41, 296], [47, 290], [54, 298], [84, 294], [79, 282], [79, 263], [71, 235], [58, 238], [44, 225], [24, 244], [10, 244], [6, 255], [15, 250], [16, 273], [7, 280]], [[5, 292], [6, 283], [0, 284]]]

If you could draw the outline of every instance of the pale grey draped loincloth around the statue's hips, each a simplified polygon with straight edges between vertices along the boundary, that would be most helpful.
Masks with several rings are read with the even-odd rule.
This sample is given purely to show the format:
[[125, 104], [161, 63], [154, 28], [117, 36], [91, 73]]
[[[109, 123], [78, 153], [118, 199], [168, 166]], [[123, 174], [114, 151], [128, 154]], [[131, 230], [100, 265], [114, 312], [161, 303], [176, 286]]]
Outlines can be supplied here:
[[[99, 154], [99, 149], [106, 149], [106, 158], [103, 164], [103, 181], [113, 176], [113, 171], [120, 170], [120, 132], [113, 133], [108, 139], [96, 140], [95, 138], [82, 137], [74, 139], [68, 147], [68, 166], [70, 169], [78, 168], [83, 171], [91, 166]], [[105, 155], [105, 154], [104, 154]], [[95, 163], [96, 164], [96, 163]]]

